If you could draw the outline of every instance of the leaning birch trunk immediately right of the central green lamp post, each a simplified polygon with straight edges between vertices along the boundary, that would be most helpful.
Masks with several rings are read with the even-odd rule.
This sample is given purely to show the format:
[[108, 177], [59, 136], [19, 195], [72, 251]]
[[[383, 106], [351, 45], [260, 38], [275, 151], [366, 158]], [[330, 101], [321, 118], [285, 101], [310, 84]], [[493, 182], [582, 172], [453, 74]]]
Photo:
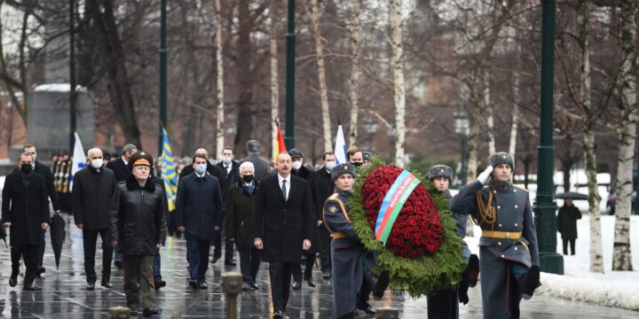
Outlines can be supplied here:
[[330, 129], [330, 114], [328, 113], [328, 91], [326, 84], [326, 65], [324, 63], [324, 51], [322, 48], [322, 37], [319, 33], [319, 8], [318, 0], [311, 0], [312, 6], [312, 28], [313, 37], [315, 38], [315, 53], [317, 54], [318, 61], [318, 76], [319, 76], [319, 97], [321, 100], [322, 110], [322, 130], [324, 136], [324, 151], [328, 152], [333, 149], [331, 145], [331, 129]]

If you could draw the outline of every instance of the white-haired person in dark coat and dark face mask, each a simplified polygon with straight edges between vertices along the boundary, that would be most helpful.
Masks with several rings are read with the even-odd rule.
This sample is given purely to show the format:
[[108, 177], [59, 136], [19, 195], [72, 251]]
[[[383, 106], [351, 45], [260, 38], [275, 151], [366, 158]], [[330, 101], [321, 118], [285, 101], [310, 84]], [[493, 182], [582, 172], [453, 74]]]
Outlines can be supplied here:
[[255, 167], [251, 162], [243, 162], [239, 171], [238, 183], [231, 187], [226, 199], [226, 236], [235, 242], [240, 252], [242, 289], [256, 290], [261, 256], [253, 245], [253, 204], [257, 193]]

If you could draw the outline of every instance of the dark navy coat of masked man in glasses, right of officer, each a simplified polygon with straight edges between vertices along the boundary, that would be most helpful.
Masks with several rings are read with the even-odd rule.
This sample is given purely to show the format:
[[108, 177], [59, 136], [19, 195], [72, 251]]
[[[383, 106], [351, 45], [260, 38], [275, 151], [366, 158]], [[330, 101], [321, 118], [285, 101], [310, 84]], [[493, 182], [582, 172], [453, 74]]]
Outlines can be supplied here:
[[213, 239], [215, 227], [222, 225], [222, 193], [217, 178], [195, 173], [186, 175], [177, 186], [176, 226], [196, 238]]

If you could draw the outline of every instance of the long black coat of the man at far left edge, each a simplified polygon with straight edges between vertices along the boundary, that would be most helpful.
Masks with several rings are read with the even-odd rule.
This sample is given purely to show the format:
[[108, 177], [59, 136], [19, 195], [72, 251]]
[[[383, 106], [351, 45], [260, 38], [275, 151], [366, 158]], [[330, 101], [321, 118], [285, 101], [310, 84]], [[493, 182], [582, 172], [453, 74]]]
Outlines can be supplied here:
[[3, 188], [3, 222], [11, 222], [11, 245], [40, 245], [42, 223], [50, 223], [49, 201], [44, 177], [28, 174], [25, 188], [20, 170], [6, 176]]

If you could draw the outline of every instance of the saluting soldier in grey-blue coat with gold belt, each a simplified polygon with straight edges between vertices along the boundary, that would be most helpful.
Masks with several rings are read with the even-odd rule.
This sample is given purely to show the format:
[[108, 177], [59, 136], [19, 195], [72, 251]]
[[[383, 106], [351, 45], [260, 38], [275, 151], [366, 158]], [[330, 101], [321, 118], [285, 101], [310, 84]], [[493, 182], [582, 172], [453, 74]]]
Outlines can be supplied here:
[[469, 214], [479, 239], [484, 318], [519, 318], [519, 302], [539, 283], [539, 250], [528, 191], [513, 186], [515, 159], [507, 152], [488, 158], [477, 180], [453, 198], [454, 214]]

